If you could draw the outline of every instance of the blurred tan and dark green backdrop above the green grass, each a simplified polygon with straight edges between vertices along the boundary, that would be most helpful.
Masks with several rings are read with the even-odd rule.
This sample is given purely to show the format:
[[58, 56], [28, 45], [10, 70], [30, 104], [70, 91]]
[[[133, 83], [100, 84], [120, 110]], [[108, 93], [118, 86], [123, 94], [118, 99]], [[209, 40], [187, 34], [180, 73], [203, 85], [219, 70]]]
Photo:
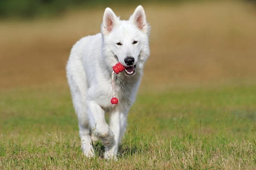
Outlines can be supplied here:
[[255, 83], [255, 2], [1, 0], [0, 88], [67, 88], [72, 45], [100, 32], [106, 7], [127, 20], [139, 4], [151, 25], [141, 91]]

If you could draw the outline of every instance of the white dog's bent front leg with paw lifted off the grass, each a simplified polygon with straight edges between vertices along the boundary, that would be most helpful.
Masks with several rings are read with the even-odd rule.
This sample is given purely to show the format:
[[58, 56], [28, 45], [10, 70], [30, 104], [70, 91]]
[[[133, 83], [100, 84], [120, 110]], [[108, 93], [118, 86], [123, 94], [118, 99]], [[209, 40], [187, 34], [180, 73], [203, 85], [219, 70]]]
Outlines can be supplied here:
[[114, 134], [105, 120], [105, 111], [95, 102], [87, 101], [87, 113], [92, 136], [97, 136], [105, 146], [113, 142]]

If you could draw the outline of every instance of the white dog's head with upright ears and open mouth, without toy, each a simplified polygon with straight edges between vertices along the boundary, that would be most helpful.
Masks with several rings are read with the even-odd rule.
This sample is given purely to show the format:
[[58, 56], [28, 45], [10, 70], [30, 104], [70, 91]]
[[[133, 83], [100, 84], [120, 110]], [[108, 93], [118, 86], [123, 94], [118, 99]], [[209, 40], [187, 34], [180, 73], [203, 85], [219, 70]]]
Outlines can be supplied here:
[[101, 26], [106, 64], [111, 68], [121, 62], [128, 76], [135, 74], [135, 68], [142, 69], [149, 56], [149, 28], [142, 6], [129, 20], [119, 20], [111, 8], [106, 8]]

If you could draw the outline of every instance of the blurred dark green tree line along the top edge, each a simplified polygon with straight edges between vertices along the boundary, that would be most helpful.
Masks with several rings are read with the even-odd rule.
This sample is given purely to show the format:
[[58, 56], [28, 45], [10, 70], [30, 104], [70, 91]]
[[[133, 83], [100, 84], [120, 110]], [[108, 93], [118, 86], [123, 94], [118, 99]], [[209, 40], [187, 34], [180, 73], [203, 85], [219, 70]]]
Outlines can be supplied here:
[[[111, 4], [138, 5], [145, 2], [179, 3], [188, 0], [0, 0], [0, 18], [18, 17], [33, 18], [37, 16], [53, 16], [61, 14], [68, 8], [77, 6], [110, 6]], [[191, 0], [193, 1], [193, 0]], [[203, 0], [194, 0], [203, 1]], [[255, 2], [256, 0], [247, 0]]]

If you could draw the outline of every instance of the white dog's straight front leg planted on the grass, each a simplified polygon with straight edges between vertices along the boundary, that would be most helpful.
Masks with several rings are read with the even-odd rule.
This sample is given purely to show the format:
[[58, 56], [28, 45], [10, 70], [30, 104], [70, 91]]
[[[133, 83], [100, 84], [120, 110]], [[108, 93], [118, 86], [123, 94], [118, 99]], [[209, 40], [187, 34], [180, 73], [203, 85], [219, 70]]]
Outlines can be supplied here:
[[109, 126], [114, 133], [114, 141], [111, 145], [105, 147], [104, 158], [117, 160], [116, 154], [118, 144], [126, 127], [127, 114], [122, 111], [115, 110], [110, 113]]

